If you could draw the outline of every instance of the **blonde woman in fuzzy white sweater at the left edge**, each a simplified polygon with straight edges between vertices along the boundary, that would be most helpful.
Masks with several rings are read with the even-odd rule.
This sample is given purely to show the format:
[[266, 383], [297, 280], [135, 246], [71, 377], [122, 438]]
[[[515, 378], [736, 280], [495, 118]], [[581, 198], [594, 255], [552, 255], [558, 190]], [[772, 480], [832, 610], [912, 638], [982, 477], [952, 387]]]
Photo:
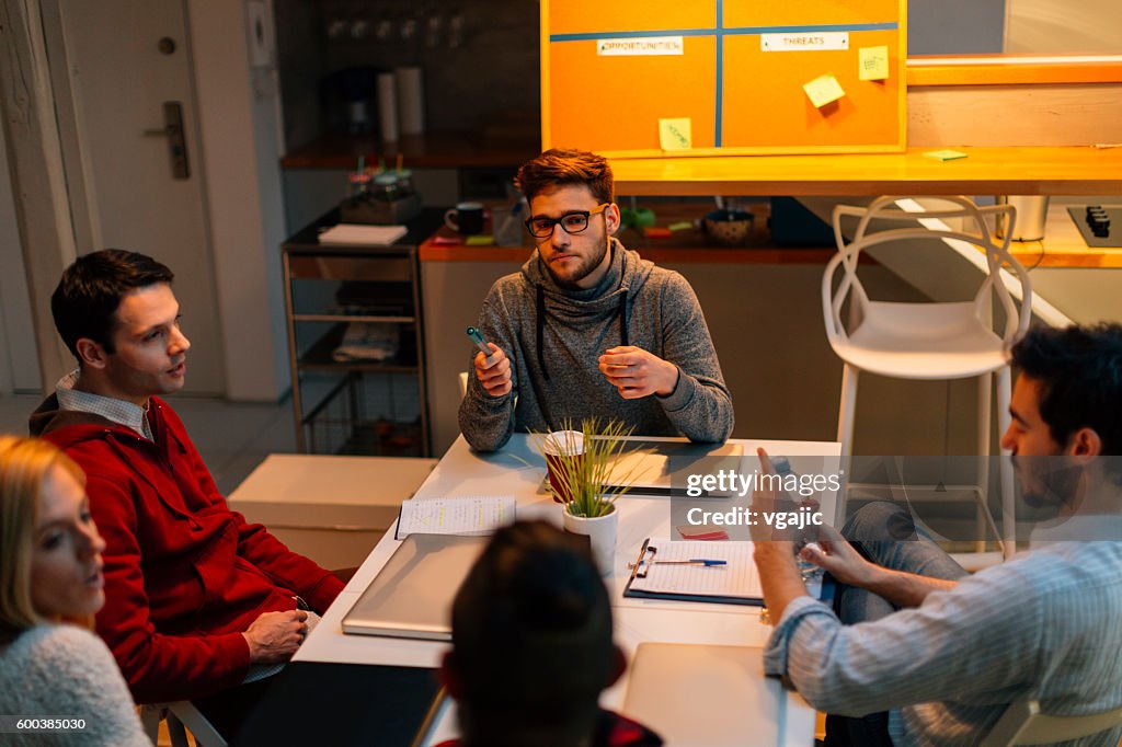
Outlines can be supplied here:
[[4, 745], [150, 747], [105, 645], [85, 477], [45, 441], [0, 436], [0, 714]]

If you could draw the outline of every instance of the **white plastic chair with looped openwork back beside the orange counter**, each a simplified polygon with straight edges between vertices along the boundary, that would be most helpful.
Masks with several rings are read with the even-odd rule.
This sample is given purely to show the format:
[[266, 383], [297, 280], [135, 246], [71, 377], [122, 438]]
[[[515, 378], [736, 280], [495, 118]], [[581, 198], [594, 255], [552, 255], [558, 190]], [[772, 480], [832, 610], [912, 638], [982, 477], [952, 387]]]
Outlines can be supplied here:
[[[898, 379], [978, 379], [978, 454], [990, 453], [991, 387], [997, 374], [999, 432], [1009, 426], [1011, 374], [1006, 362], [1009, 349], [1028, 331], [1031, 320], [1032, 288], [1026, 269], [1009, 253], [1009, 237], [1013, 234], [1017, 211], [1011, 205], [978, 208], [966, 197], [940, 197], [939, 206], [923, 213], [904, 212], [896, 208], [899, 197], [874, 200], [867, 208], [837, 205], [834, 209], [834, 236], [838, 253], [827, 264], [822, 275], [822, 314], [826, 335], [834, 352], [845, 363], [842, 377], [842, 403], [838, 412], [838, 441], [842, 454], [849, 455], [853, 446], [854, 411], [857, 403], [857, 378], [861, 371]], [[986, 216], [1004, 216], [1009, 229], [1005, 239], [995, 243], [986, 227]], [[857, 219], [852, 241], [846, 241], [843, 220]], [[960, 229], [926, 228], [918, 219], [960, 221]], [[891, 228], [870, 231], [874, 221]], [[898, 228], [899, 227], [899, 228]], [[861, 252], [870, 247], [936, 239], [962, 241], [985, 253], [987, 273], [973, 301], [954, 303], [896, 303], [873, 301], [858, 277]], [[904, 249], [907, 250], [907, 249]], [[1000, 277], [1008, 267], [1020, 282], [1022, 306], [1019, 311]], [[839, 273], [840, 270], [840, 273]], [[1004, 311], [1001, 334], [993, 330], [993, 298]], [[843, 312], [848, 302], [848, 322]], [[986, 461], [983, 460], [983, 464]], [[985, 472], [985, 468], [983, 468]], [[1012, 555], [1015, 548], [1013, 473], [1009, 460], [1001, 467], [1002, 553]], [[980, 481], [987, 482], [987, 474]], [[984, 489], [978, 488], [980, 510], [985, 506]], [[844, 511], [844, 497], [842, 498]], [[844, 513], [839, 511], [844, 516]], [[992, 523], [992, 517], [991, 517]]]

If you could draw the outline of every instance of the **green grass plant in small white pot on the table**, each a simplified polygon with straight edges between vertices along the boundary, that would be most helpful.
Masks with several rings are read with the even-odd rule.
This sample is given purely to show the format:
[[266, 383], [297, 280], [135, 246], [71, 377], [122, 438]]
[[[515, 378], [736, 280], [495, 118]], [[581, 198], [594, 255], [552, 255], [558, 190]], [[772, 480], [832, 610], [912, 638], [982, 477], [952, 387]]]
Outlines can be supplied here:
[[615, 559], [619, 526], [616, 499], [631, 490], [636, 479], [635, 468], [619, 467], [624, 457], [636, 451], [627, 445], [633, 430], [615, 419], [587, 418], [579, 431], [567, 423], [565, 430], [542, 441], [550, 491], [562, 504], [564, 528], [588, 536], [605, 575], [611, 572]]

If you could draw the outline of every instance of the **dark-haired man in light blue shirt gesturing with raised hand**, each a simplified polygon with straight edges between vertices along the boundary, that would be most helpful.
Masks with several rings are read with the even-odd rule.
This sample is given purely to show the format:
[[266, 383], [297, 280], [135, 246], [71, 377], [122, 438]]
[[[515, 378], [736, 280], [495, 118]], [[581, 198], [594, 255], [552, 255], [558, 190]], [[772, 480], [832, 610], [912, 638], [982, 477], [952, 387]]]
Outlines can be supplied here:
[[1026, 501], [1054, 515], [1027, 553], [969, 575], [901, 506], [868, 504], [801, 551], [839, 582], [830, 609], [807, 596], [790, 542], [757, 537], [767, 672], [830, 714], [827, 745], [977, 744], [1014, 702], [1122, 706], [1122, 326], [1034, 329], [1011, 358], [1001, 445]]

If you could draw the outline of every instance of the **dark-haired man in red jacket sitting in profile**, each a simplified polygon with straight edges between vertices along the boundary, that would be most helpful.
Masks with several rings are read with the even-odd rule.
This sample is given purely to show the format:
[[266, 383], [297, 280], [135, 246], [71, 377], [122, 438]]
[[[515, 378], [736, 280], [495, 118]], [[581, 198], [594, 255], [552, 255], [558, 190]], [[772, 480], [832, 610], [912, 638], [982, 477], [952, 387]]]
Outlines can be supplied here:
[[183, 387], [191, 348], [172, 279], [150, 257], [116, 249], [63, 273], [50, 310], [79, 367], [30, 430], [85, 470], [108, 544], [96, 628], [134, 698], [195, 700], [220, 731], [236, 730], [239, 704], [263, 690], [248, 683], [292, 657], [305, 610], [318, 619], [343, 584], [229, 509], [159, 398]]

